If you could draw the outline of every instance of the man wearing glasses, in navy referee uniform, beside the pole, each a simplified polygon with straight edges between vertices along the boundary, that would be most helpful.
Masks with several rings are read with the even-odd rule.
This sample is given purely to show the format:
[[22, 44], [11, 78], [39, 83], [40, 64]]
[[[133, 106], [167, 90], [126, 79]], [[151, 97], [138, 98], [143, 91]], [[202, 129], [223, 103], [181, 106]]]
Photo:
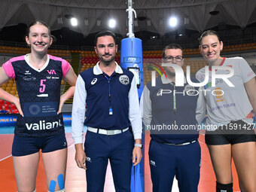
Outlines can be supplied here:
[[[178, 44], [169, 44], [163, 50], [163, 62], [182, 67], [182, 53]], [[200, 105], [203, 95], [185, 77], [184, 87], [175, 86], [175, 70], [164, 69], [166, 74], [156, 79], [155, 86], [151, 81], [145, 86], [141, 102], [143, 123], [151, 130], [148, 154], [153, 191], [171, 191], [175, 176], [180, 192], [197, 192], [201, 160], [197, 124], [205, 115]]]

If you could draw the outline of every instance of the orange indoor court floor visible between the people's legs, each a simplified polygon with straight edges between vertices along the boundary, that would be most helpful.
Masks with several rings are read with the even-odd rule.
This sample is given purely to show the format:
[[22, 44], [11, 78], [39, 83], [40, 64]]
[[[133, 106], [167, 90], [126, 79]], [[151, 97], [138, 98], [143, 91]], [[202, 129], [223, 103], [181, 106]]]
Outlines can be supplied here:
[[[67, 192], [85, 192], [86, 181], [85, 172], [79, 169], [75, 163], [75, 146], [72, 140], [70, 126], [66, 126], [66, 137], [69, 146], [67, 173], [66, 173], [66, 191]], [[17, 186], [14, 176], [13, 161], [11, 157], [11, 145], [14, 138], [14, 127], [0, 127], [0, 191], [1, 192], [16, 192]], [[145, 192], [151, 192], [152, 184], [150, 178], [150, 169], [148, 163], [148, 144], [150, 137], [145, 134]], [[204, 142], [203, 133], [200, 134], [200, 145], [202, 148], [202, 163], [200, 172], [199, 192], [215, 192], [215, 175], [212, 169], [209, 152]], [[239, 191], [237, 175], [233, 166], [233, 191]], [[105, 192], [114, 192], [114, 184], [111, 179], [111, 169], [106, 175]], [[42, 162], [39, 163], [37, 192], [47, 191], [46, 178], [44, 175], [44, 167]], [[172, 192], [178, 192], [177, 182], [174, 181]]]

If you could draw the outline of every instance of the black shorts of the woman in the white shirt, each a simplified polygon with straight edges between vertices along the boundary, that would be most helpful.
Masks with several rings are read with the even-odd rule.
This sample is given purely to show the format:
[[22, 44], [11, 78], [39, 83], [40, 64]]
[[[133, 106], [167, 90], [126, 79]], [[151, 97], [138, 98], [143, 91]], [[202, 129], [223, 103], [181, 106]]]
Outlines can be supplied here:
[[242, 120], [219, 126], [215, 131], [206, 131], [207, 145], [234, 145], [242, 142], [256, 142], [253, 125]]

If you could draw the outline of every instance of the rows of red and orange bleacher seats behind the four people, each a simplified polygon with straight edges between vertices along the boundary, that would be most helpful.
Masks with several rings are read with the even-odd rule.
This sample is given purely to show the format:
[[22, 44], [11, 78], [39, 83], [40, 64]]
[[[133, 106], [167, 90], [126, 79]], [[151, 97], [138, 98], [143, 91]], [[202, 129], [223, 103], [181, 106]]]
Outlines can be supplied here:
[[[224, 53], [238, 53], [239, 51], [247, 51], [252, 52], [256, 50], [256, 43], [253, 44], [235, 44], [235, 45], [226, 45], [224, 46]], [[8, 47], [8, 46], [0, 46], [0, 53], [6, 56], [19, 56], [26, 53], [30, 53], [29, 47]], [[63, 59], [66, 59], [71, 63], [72, 53], [80, 54], [80, 64], [78, 72], [83, 72], [84, 70], [90, 69], [95, 66], [99, 61], [98, 56], [96, 55], [94, 50], [48, 50], [48, 53], [53, 56], [59, 56]], [[143, 51], [143, 72], [144, 72], [144, 84], [147, 84], [151, 81], [151, 72], [154, 71], [152, 66], [157, 67], [162, 63], [162, 53], [163, 50], [145, 50]], [[200, 59], [199, 59], [200, 58]], [[120, 65], [120, 52], [116, 54], [116, 62]], [[191, 76], [195, 75], [195, 73], [206, 66], [207, 62], [200, 55], [200, 50], [198, 48], [194, 49], [184, 49], [184, 66], [183, 71], [186, 72], [186, 67], [190, 66], [190, 74]], [[250, 63], [251, 69], [256, 72], [256, 62]], [[0, 63], [2, 66], [2, 63]], [[156, 75], [159, 76], [158, 72]], [[66, 82], [62, 80], [62, 87], [65, 87]], [[1, 88], [6, 90], [13, 96], [17, 96], [17, 87], [15, 84], [15, 80], [11, 79], [10, 81], [2, 84]], [[64, 91], [64, 90], [63, 90]], [[0, 99], [0, 111], [5, 110], [8, 113], [18, 113], [17, 108], [14, 104], [10, 102], [4, 101]]]

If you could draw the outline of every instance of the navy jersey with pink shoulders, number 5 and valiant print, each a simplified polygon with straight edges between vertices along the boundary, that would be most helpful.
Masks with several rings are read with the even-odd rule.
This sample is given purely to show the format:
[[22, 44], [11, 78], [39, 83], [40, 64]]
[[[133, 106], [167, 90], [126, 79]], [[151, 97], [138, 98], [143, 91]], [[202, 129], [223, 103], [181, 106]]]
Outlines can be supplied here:
[[18, 56], [5, 62], [3, 69], [15, 78], [20, 106], [24, 117], [19, 115], [14, 133], [22, 137], [45, 137], [65, 133], [59, 109], [62, 77], [69, 71], [66, 60], [47, 56], [42, 69], [29, 63], [29, 55]]

